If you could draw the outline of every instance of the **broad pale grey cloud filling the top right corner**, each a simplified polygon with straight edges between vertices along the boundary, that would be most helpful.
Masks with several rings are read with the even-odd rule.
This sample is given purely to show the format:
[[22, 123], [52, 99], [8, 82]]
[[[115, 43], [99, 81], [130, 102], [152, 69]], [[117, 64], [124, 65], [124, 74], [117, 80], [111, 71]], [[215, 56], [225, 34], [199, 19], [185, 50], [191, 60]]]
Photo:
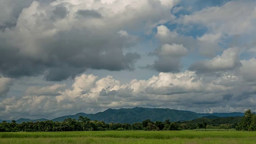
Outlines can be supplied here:
[[228, 35], [246, 34], [255, 29], [255, 2], [237, 1], [226, 2], [222, 6], [211, 6], [200, 11], [184, 15], [178, 19], [180, 24], [202, 24], [210, 32]]

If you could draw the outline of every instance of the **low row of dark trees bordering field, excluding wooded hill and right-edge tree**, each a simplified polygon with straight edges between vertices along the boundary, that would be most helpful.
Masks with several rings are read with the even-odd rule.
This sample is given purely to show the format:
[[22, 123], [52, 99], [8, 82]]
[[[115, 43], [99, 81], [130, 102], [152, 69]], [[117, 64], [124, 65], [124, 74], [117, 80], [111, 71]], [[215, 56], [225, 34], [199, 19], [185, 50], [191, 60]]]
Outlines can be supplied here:
[[[207, 118], [205, 119], [207, 122]], [[200, 120], [199, 120], [200, 121]], [[200, 128], [234, 128], [230, 124], [220, 124], [219, 126], [208, 125], [203, 122], [186, 121], [186, 122], [170, 122], [170, 119], [164, 122], [152, 122], [150, 119], [143, 122], [135, 122], [133, 124], [110, 123], [103, 121], [91, 121], [89, 118], [80, 116], [78, 120], [65, 119], [63, 122], [53, 122], [52, 120], [37, 122], [22, 122], [17, 124], [15, 120], [11, 123], [0, 123], [0, 132], [59, 132], [59, 131], [92, 131], [92, 130], [192, 130]]]

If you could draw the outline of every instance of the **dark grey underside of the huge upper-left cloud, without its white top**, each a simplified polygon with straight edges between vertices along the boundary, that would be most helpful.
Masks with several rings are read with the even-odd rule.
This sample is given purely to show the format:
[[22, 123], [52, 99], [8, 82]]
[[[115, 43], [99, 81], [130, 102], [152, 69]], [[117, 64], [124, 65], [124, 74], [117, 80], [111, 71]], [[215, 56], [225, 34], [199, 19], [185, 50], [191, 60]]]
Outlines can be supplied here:
[[[94, 40], [96, 37], [98, 39]], [[114, 46], [111, 42], [114, 39], [90, 35], [87, 30], [60, 32], [55, 40], [40, 42], [44, 47], [44, 60], [24, 56], [18, 48], [6, 48], [0, 44], [0, 73], [11, 78], [45, 74], [46, 80], [60, 81], [74, 77], [87, 68], [134, 70], [134, 63], [140, 54], [128, 52], [124, 55], [122, 43], [125, 40], [119, 40], [120, 43]]]

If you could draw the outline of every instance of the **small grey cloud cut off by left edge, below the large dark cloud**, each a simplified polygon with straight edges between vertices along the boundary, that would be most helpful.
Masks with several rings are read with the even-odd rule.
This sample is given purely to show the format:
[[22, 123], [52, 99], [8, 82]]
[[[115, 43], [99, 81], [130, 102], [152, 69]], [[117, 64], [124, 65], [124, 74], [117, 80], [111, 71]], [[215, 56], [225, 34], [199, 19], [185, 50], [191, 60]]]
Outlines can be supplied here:
[[0, 76], [0, 98], [6, 96], [12, 84], [13, 80], [11, 78], [4, 78]]

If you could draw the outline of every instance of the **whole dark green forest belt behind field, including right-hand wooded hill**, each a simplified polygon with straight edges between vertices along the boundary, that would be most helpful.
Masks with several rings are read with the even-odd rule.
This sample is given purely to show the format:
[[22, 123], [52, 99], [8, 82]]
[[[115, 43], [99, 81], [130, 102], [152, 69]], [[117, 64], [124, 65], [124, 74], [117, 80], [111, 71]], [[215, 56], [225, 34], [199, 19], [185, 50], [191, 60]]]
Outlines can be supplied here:
[[58, 132], [58, 131], [92, 131], [92, 130], [193, 130], [193, 129], [231, 129], [255, 131], [256, 115], [247, 110], [243, 117], [228, 118], [198, 118], [196, 120], [170, 122], [152, 122], [150, 119], [143, 122], [129, 123], [105, 123], [104, 121], [90, 120], [79, 116], [79, 119], [67, 118], [63, 122], [52, 120], [37, 122], [22, 122], [17, 124], [3, 121], [0, 123], [0, 132]]

